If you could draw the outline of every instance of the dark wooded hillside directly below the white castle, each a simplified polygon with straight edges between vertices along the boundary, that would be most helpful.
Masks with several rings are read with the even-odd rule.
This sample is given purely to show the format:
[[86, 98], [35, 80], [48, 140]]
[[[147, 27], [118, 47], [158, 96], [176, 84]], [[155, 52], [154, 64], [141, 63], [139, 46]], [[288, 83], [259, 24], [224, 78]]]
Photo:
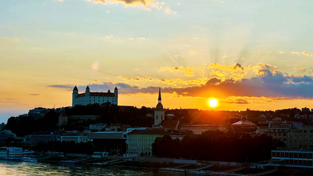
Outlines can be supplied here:
[[[81, 121], [81, 120], [68, 120], [68, 125], [65, 130], [80, 130], [83, 131], [89, 128], [89, 124], [92, 123], [118, 123], [137, 127], [152, 127], [154, 122], [153, 117], [146, 117], [147, 113], [151, 113], [154, 110], [151, 108], [141, 107], [128, 108], [123, 111], [119, 109], [117, 105], [111, 105], [106, 103], [102, 106], [98, 104], [94, 105], [76, 105], [73, 108], [65, 108], [65, 114], [70, 115], [100, 115], [98, 120], [94, 121]], [[29, 117], [10, 117], [8, 119], [6, 128], [11, 130], [17, 136], [25, 136], [36, 132], [51, 132], [58, 131], [59, 127], [58, 118], [60, 113], [55, 111], [49, 111], [44, 117], [35, 120], [32, 116]], [[81, 121], [77, 123], [77, 121]]]

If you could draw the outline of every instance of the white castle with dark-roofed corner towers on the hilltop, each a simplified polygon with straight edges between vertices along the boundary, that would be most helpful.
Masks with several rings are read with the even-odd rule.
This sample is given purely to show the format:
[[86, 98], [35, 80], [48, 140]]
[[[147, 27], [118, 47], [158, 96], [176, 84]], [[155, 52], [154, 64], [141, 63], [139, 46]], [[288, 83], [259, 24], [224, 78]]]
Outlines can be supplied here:
[[90, 92], [89, 86], [86, 87], [86, 92], [79, 94], [78, 89], [75, 85], [72, 94], [72, 107], [75, 105], [89, 105], [89, 104], [104, 104], [110, 102], [111, 104], [117, 105], [118, 91], [117, 87], [114, 89], [114, 93], [110, 90], [107, 93]]

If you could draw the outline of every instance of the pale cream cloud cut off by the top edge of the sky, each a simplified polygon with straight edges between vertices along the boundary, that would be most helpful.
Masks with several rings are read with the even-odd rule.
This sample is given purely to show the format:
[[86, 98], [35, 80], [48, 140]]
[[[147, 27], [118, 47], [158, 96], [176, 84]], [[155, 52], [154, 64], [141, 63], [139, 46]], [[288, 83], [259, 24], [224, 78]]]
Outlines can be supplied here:
[[94, 4], [112, 5], [112, 4], [123, 4], [125, 7], [136, 7], [140, 9], [156, 9], [163, 11], [166, 14], [177, 14], [171, 10], [170, 6], [166, 6], [165, 2], [158, 2], [154, 0], [85, 0]]

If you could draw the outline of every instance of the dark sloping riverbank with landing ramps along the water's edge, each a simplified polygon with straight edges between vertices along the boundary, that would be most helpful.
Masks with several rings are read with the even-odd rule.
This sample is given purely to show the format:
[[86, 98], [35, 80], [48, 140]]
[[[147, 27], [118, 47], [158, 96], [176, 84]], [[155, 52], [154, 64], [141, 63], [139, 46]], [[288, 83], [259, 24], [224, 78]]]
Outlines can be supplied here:
[[[175, 174], [193, 175], [265, 175], [275, 172], [271, 169], [257, 169], [243, 166], [242, 164], [220, 165], [207, 164], [212, 162], [194, 162], [194, 160], [175, 160], [176, 162], [165, 162], [166, 158], [151, 158], [153, 161], [146, 161], [146, 158], [123, 158], [123, 157], [50, 157], [41, 162], [52, 162], [61, 165], [86, 165], [93, 167], [118, 167], [130, 169], [150, 169], [158, 172], [169, 172]], [[188, 163], [189, 162], [189, 163]]]

